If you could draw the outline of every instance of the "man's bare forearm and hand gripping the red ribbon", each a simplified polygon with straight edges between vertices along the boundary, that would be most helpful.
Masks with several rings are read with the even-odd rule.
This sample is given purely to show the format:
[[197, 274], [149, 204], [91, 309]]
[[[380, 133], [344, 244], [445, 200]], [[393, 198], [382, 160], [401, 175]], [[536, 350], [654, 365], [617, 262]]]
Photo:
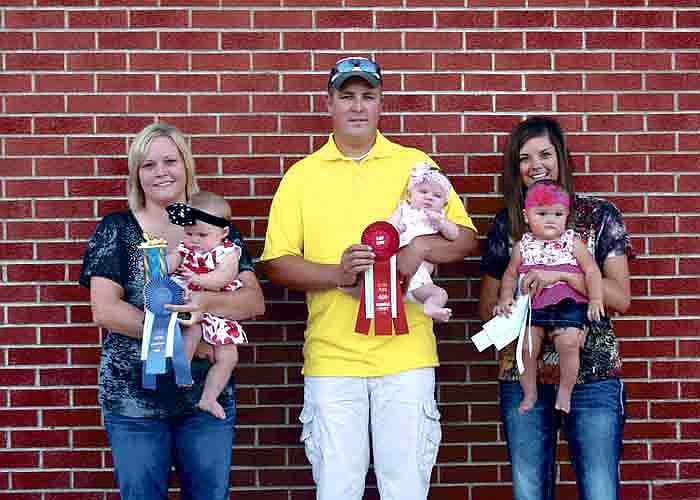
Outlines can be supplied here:
[[261, 262], [270, 281], [292, 290], [329, 290], [339, 286], [354, 286], [358, 274], [374, 263], [374, 253], [367, 245], [350, 245], [338, 264], [317, 264], [297, 255], [283, 255]]

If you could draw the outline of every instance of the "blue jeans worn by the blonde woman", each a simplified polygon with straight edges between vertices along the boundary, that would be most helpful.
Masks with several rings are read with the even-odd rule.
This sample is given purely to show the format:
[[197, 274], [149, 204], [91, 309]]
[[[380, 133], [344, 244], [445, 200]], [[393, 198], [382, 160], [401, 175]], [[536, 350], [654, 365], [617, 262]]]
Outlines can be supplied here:
[[167, 500], [175, 464], [182, 500], [228, 500], [236, 408], [226, 420], [196, 410], [165, 419], [105, 412], [122, 500]]

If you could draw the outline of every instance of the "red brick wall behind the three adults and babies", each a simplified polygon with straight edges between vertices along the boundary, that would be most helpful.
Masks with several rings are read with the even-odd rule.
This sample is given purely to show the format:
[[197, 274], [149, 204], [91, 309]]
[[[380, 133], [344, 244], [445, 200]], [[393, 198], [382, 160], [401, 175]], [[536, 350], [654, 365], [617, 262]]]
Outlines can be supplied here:
[[[384, 68], [391, 138], [429, 152], [481, 231], [498, 151], [527, 113], [570, 132], [580, 191], [624, 211], [639, 257], [616, 322], [629, 394], [623, 498], [700, 498], [700, 2], [697, 0], [5, 0], [0, 9], [0, 498], [116, 498], [96, 384], [102, 333], [76, 284], [96, 221], [125, 206], [128, 138], [192, 137], [259, 255], [286, 167], [324, 140], [341, 54]], [[445, 266], [444, 443], [432, 499], [507, 499], [478, 259]], [[232, 494], [313, 498], [298, 446], [305, 308], [266, 284], [238, 368]], [[561, 492], [574, 498], [566, 448]], [[368, 480], [370, 483], [372, 479]], [[371, 489], [366, 498], [377, 498]]]

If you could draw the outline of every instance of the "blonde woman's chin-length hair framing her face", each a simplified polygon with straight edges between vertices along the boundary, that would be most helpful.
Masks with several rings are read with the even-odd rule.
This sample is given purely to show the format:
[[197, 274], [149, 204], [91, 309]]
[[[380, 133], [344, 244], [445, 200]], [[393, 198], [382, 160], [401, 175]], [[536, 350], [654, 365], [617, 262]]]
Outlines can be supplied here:
[[164, 122], [152, 123], [145, 127], [134, 137], [129, 148], [129, 179], [126, 184], [126, 193], [129, 199], [129, 208], [134, 211], [142, 210], [146, 206], [146, 197], [143, 186], [139, 181], [139, 168], [148, 154], [148, 148], [153, 139], [167, 137], [177, 147], [182, 161], [185, 164], [185, 200], [189, 200], [193, 193], [199, 190], [194, 166], [192, 151], [182, 132]]

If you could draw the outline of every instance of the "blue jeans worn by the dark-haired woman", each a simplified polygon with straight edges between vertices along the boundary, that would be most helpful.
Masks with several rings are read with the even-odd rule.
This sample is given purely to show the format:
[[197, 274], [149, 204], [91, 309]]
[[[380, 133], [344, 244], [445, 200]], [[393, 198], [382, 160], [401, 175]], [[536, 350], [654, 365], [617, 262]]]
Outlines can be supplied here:
[[[557, 386], [538, 384], [537, 403], [518, 413], [523, 391], [518, 382], [500, 383], [501, 419], [512, 464], [514, 500], [554, 500]], [[625, 422], [622, 381], [576, 384], [571, 413], [563, 417], [579, 500], [618, 500], [618, 465]]]

